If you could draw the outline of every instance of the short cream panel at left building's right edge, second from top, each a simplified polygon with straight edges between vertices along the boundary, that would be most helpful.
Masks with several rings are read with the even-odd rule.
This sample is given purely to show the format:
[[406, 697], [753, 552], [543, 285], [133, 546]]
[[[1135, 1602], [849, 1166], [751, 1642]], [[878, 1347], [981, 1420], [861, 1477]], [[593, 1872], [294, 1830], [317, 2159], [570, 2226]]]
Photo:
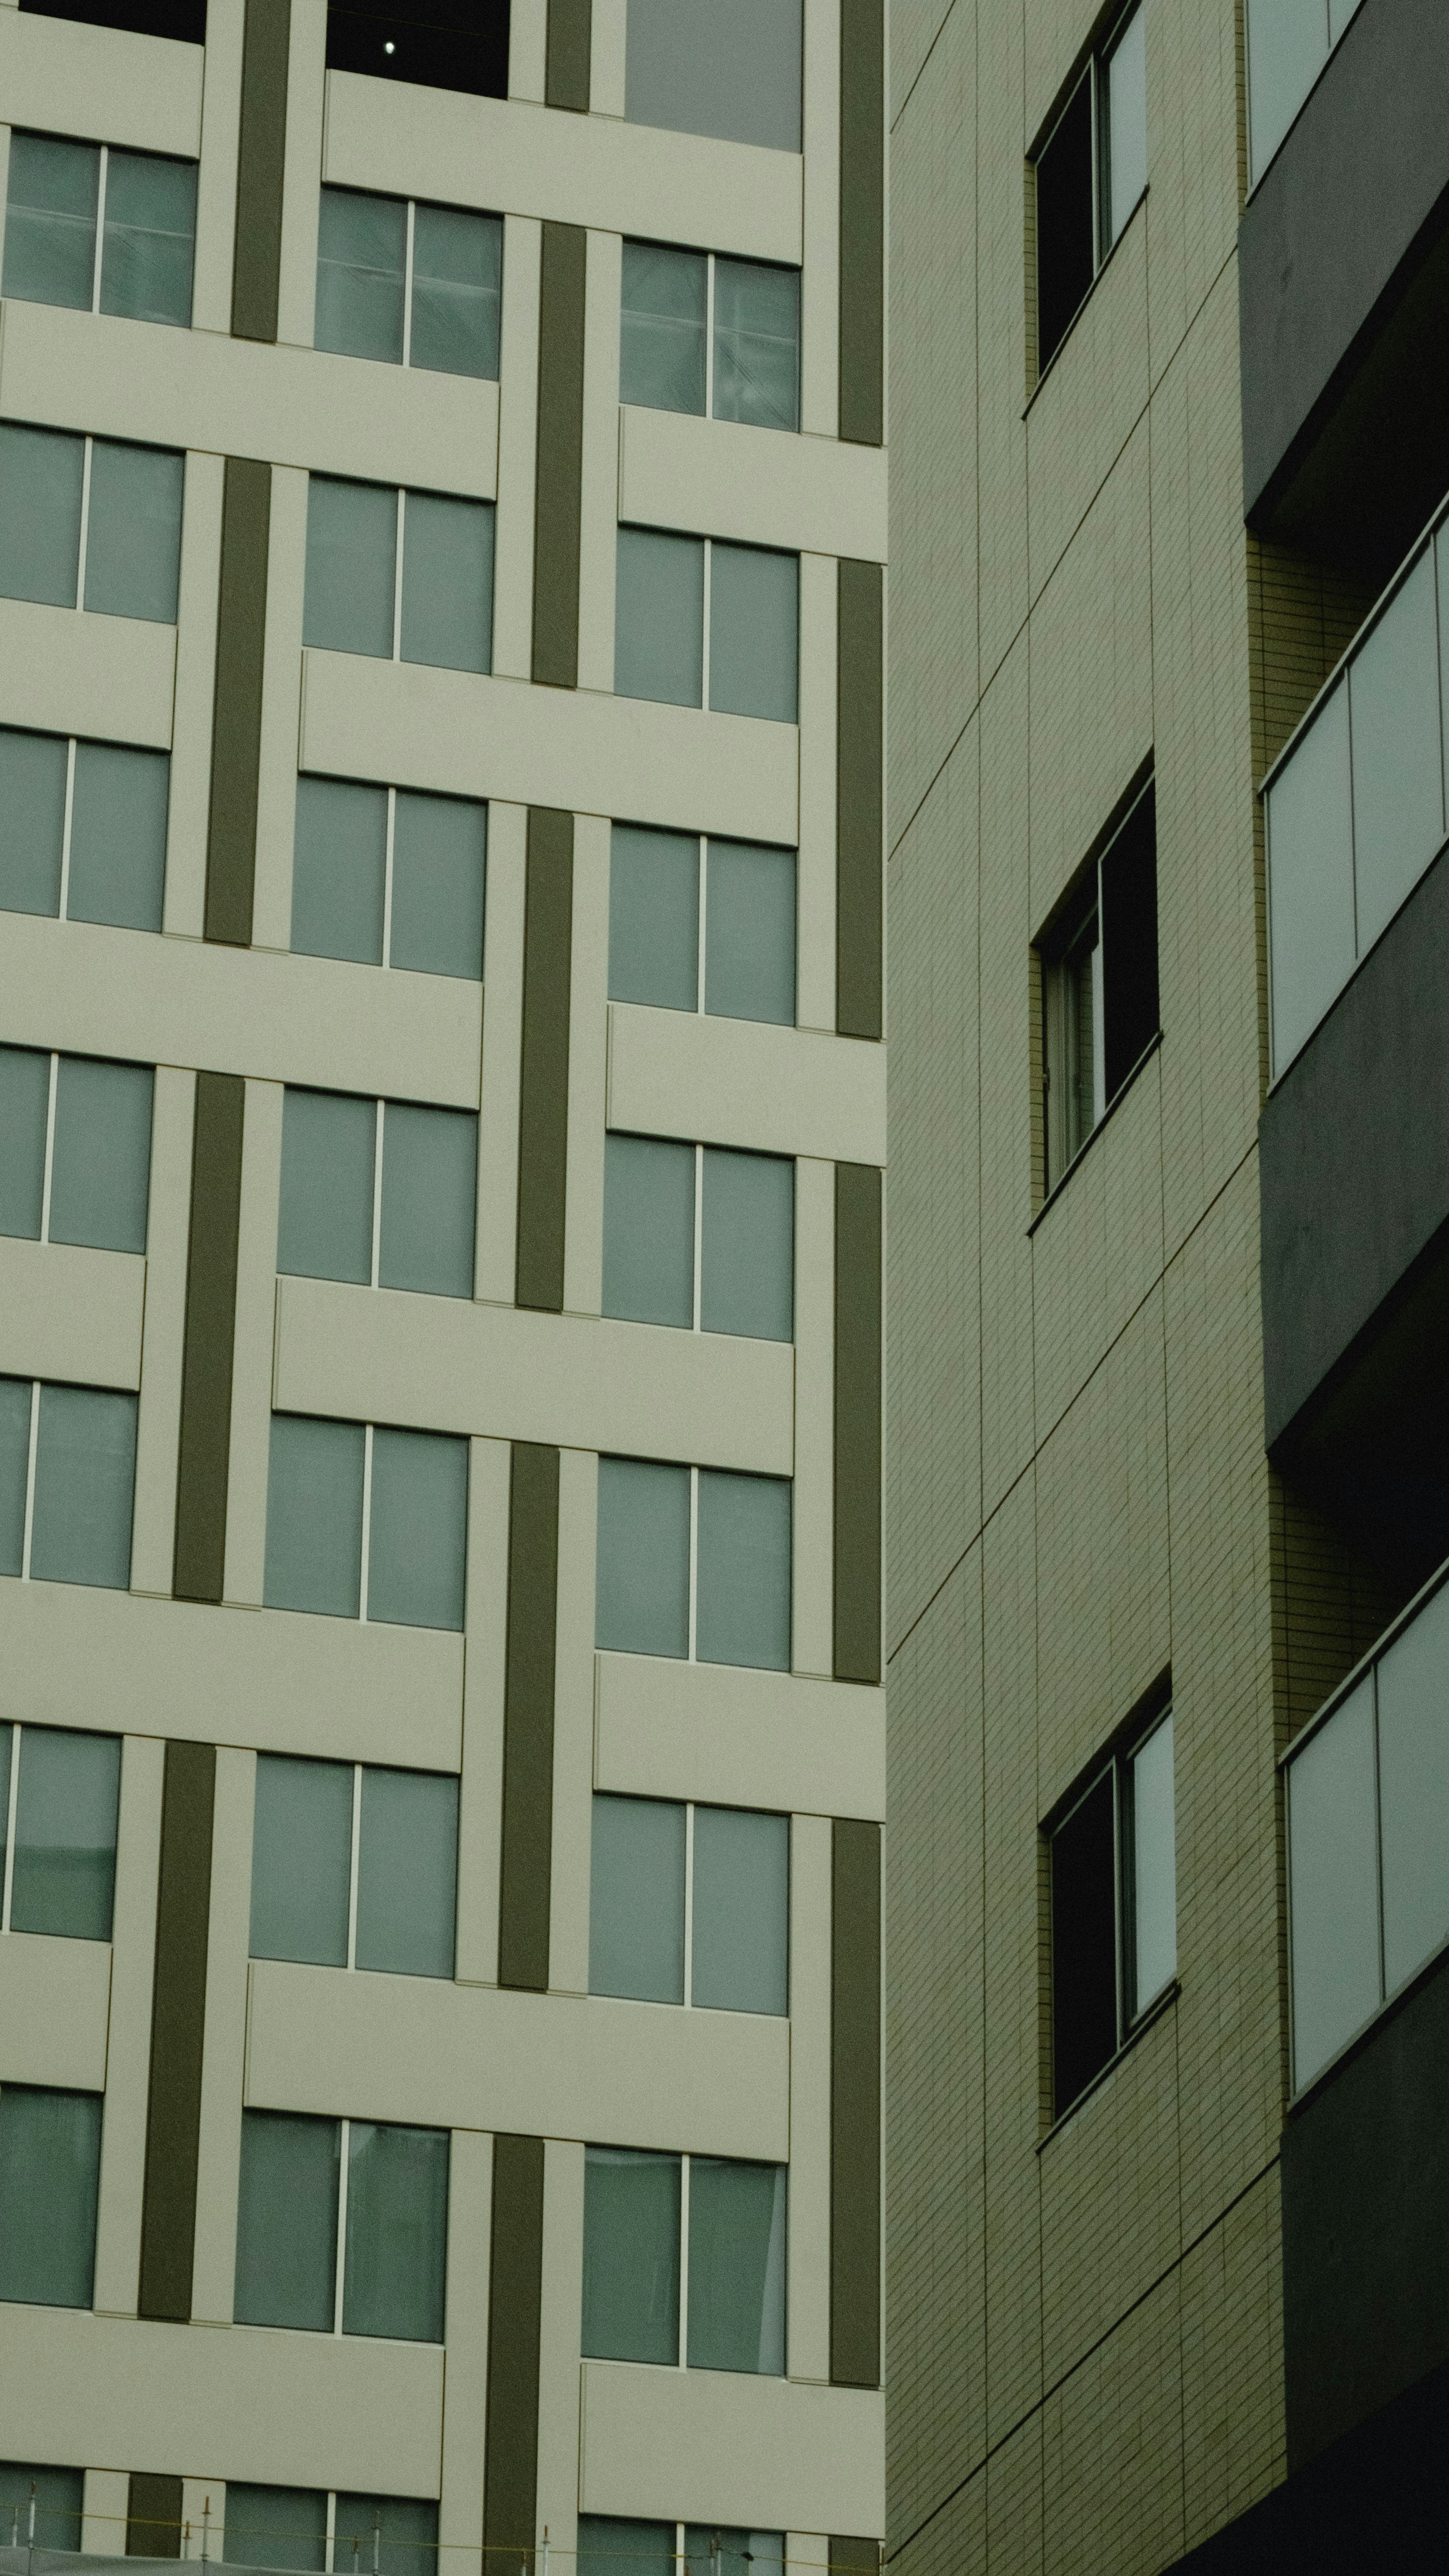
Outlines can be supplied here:
[[884, 1048], [611, 1002], [608, 1126], [761, 1154], [884, 1162]]

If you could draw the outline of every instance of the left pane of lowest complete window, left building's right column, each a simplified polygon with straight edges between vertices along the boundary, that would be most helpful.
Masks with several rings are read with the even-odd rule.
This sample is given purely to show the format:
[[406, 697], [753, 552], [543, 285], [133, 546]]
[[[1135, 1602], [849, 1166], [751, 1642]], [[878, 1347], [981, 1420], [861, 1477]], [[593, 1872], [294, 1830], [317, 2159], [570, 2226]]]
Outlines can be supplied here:
[[583, 2159], [583, 2354], [678, 2362], [678, 2156]]

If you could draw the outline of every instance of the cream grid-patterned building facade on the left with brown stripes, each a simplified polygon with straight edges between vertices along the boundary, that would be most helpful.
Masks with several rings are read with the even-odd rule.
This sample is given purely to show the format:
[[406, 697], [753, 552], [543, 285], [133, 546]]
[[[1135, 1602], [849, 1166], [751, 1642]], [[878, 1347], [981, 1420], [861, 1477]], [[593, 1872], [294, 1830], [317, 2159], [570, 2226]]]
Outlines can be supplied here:
[[882, 44], [0, 5], [0, 2548], [879, 2561]]

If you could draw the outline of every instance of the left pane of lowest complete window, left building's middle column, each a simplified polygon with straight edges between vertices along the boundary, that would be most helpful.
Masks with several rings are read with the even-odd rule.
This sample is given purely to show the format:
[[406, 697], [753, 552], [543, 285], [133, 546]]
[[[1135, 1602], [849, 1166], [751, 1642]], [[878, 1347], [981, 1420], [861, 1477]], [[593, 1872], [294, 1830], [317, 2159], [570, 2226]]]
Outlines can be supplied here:
[[[237, 2326], [333, 2331], [338, 2277], [335, 2120], [242, 2112]], [[276, 2563], [276, 2561], [273, 2561]]]

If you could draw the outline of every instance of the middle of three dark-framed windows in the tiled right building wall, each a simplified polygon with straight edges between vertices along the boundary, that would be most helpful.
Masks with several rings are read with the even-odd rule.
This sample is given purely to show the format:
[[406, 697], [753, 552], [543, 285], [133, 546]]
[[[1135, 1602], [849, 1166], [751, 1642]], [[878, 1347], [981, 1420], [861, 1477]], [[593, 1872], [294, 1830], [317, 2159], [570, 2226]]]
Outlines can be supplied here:
[[1039, 940], [1047, 1188], [1158, 1038], [1158, 822], [1147, 783]]

